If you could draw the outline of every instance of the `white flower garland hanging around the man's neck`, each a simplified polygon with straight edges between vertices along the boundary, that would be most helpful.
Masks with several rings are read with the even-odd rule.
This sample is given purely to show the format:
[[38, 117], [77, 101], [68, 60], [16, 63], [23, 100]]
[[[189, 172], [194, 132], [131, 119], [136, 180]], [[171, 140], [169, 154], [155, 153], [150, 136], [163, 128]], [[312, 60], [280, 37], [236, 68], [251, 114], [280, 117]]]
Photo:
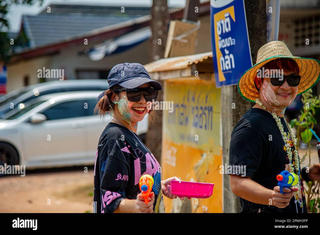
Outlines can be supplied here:
[[[269, 111], [262, 103], [261, 101], [257, 98], [256, 99], [256, 103], [259, 104], [262, 108], [266, 109], [267, 111]], [[270, 112], [270, 111], [269, 111]], [[270, 112], [271, 113], [271, 112]], [[276, 113], [271, 113], [272, 114], [272, 117], [276, 120], [276, 123], [277, 123], [277, 126], [280, 130], [280, 133], [282, 135], [282, 139], [284, 141], [284, 146], [285, 146], [285, 151], [287, 152], [287, 156], [290, 160], [290, 171], [293, 172], [293, 170], [295, 169], [297, 172], [299, 172], [299, 156], [298, 156], [298, 151], [297, 151], [297, 138], [295, 136], [295, 134], [293, 134], [293, 130], [291, 128], [290, 125], [287, 125], [287, 121], [285, 120], [285, 123], [287, 125], [287, 128], [289, 130], [289, 133], [290, 133], [290, 136], [291, 136], [291, 139], [292, 139], [292, 143], [294, 145], [294, 162], [295, 162], [295, 165], [292, 164], [292, 151], [291, 151], [291, 147], [289, 145], [289, 138], [288, 136], [285, 136], [284, 134], [284, 129], [283, 129], [283, 125], [281, 123], [281, 119], [278, 117], [278, 115]]]

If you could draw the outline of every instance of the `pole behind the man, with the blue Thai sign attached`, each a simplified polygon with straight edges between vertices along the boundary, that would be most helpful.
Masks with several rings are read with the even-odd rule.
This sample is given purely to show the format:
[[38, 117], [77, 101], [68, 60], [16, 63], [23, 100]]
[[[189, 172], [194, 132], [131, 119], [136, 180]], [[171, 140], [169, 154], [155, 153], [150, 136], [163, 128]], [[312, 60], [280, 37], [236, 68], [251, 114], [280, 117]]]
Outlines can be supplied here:
[[[248, 34], [252, 63], [256, 63], [259, 48], [267, 43], [266, 1], [245, 0]], [[245, 36], [245, 35], [244, 35]], [[237, 55], [241, 56], [241, 54]], [[235, 109], [232, 109], [235, 103]], [[236, 85], [221, 88], [222, 116], [222, 155], [223, 164], [229, 162], [229, 145], [234, 126], [253, 103], [241, 97]], [[245, 138], [245, 137], [244, 137]], [[233, 194], [230, 187], [230, 176], [223, 174], [223, 206], [225, 213], [238, 213], [241, 210], [239, 198]]]

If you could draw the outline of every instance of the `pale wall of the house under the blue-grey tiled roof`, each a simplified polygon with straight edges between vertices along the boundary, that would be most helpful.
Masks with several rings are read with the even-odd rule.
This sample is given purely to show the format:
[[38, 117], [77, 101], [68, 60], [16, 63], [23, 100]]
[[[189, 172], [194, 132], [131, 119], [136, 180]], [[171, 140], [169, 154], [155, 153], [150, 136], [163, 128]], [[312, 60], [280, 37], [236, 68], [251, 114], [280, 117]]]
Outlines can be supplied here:
[[[125, 52], [109, 55], [100, 61], [92, 61], [86, 55], [79, 55], [79, 52], [88, 48], [88, 46], [91, 47], [90, 43], [87, 46], [65, 48], [58, 54], [36, 57], [7, 65], [7, 92], [24, 86], [24, 77], [26, 76], [29, 77], [29, 85], [39, 83], [38, 69], [43, 69], [43, 67], [45, 69], [64, 69], [65, 79], [76, 79], [77, 70], [110, 70], [116, 64], [124, 62], [148, 63], [148, 41]], [[58, 79], [46, 78], [46, 81]]]

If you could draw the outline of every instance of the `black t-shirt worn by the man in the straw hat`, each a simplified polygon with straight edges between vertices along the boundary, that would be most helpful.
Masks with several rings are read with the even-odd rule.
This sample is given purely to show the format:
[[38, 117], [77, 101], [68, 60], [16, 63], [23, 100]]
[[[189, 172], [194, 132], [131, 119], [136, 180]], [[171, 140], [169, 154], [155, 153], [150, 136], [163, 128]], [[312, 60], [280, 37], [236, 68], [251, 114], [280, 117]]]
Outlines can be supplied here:
[[[292, 158], [294, 146], [284, 118], [281, 118], [284, 132], [289, 135]], [[294, 159], [293, 160], [293, 165]], [[236, 124], [230, 141], [229, 165], [246, 166], [246, 176], [260, 185], [273, 190], [278, 185], [276, 175], [281, 171], [290, 172], [289, 159], [285, 151], [281, 132], [272, 115], [263, 109], [249, 109]], [[240, 198], [243, 213], [307, 213], [302, 177], [299, 172], [301, 190], [295, 193], [285, 208], [260, 205]], [[234, 173], [232, 173], [234, 174]]]

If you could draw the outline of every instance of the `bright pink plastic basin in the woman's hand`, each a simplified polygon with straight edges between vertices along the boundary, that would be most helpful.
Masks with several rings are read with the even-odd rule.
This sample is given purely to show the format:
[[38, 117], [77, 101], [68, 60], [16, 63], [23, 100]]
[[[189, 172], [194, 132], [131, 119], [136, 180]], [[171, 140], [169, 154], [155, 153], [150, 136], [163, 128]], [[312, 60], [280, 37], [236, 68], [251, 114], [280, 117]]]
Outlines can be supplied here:
[[214, 183], [171, 181], [172, 194], [187, 198], [210, 198]]

